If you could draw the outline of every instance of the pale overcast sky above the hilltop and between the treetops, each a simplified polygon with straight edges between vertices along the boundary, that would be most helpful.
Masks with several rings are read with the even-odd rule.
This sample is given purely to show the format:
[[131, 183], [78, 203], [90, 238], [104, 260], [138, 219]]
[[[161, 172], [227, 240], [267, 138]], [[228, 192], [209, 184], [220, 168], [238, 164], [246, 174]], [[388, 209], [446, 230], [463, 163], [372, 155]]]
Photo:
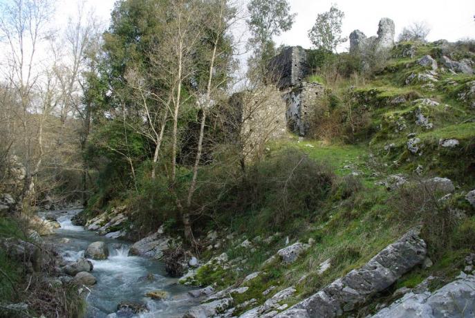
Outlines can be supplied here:
[[[1, 0], [0, 0], [1, 1]], [[69, 15], [74, 15], [77, 3], [82, 0], [59, 0], [57, 23], [62, 24]], [[245, 2], [245, 0], [243, 0]], [[109, 21], [115, 0], [87, 1], [95, 15]], [[475, 38], [475, 0], [290, 0], [292, 12], [297, 13], [292, 29], [275, 37], [277, 45], [303, 46], [310, 48], [307, 32], [315, 24], [319, 12], [327, 11], [332, 3], [345, 12], [343, 35], [359, 29], [366, 36], [376, 35], [378, 22], [389, 17], [395, 22], [396, 35], [404, 26], [424, 21], [430, 28], [429, 41], [447, 39], [456, 41]], [[348, 48], [348, 42], [339, 51]]]

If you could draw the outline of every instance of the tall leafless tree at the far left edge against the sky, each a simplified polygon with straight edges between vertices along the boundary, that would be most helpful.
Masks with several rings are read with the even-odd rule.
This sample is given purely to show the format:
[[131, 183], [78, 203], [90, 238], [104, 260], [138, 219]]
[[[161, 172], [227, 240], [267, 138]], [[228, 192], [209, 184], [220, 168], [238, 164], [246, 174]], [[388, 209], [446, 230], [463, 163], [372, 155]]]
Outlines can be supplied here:
[[50, 38], [48, 22], [53, 8], [52, 1], [48, 0], [13, 0], [1, 8], [0, 32], [9, 51], [5, 75], [20, 104], [15, 117], [19, 122], [17, 133], [21, 135], [26, 168], [18, 206], [32, 193], [32, 180], [44, 156], [45, 119], [54, 106], [51, 74], [45, 71], [37, 55], [39, 47], [46, 45]]

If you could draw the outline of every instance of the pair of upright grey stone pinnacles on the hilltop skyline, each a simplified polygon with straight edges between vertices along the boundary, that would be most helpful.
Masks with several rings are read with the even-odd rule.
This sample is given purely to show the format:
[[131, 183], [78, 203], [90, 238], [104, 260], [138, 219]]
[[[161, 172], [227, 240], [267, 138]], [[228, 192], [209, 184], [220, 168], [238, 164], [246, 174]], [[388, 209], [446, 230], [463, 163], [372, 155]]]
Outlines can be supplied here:
[[350, 34], [350, 53], [365, 55], [369, 51], [381, 53], [389, 51], [394, 46], [395, 26], [394, 21], [382, 18], [378, 24], [378, 37], [366, 37], [360, 30]]

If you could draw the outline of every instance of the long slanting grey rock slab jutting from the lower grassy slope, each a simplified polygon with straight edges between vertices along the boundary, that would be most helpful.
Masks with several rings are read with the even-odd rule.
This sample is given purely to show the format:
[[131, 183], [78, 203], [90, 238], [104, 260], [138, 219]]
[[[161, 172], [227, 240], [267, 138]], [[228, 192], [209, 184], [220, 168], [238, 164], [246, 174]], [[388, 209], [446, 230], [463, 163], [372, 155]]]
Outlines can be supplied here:
[[337, 317], [367, 301], [373, 294], [391, 286], [403, 274], [421, 264], [427, 248], [413, 229], [384, 248], [366, 265], [352, 270], [313, 296], [277, 317]]

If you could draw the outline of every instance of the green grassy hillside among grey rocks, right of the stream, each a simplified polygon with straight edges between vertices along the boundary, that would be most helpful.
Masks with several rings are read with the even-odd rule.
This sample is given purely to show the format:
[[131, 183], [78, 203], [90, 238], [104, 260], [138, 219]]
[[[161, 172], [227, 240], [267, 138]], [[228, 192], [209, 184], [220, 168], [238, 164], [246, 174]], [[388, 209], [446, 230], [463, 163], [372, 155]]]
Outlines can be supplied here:
[[[376, 186], [376, 180], [382, 180], [385, 176], [395, 173], [411, 175], [418, 165], [423, 165], [425, 176], [447, 176], [452, 178], [458, 187], [465, 190], [475, 187], [474, 178], [469, 175], [469, 165], [473, 161], [470, 156], [473, 154], [475, 144], [475, 123], [466, 122], [475, 117], [475, 111], [457, 100], [452, 88], [446, 87], [448, 81], [455, 80], [463, 83], [475, 77], [443, 74], [440, 75], [437, 90], [430, 92], [425, 91], [421, 84], [404, 84], [404, 79], [409, 73], [425, 71], [416, 64], [416, 60], [431, 52], [432, 49], [430, 46], [422, 46], [414, 59], [391, 60], [386, 70], [372, 82], [357, 88], [357, 93], [363, 95], [370, 92], [371, 98], [368, 102], [356, 102], [353, 106], [359, 107], [362, 104], [369, 106], [372, 124], [375, 127], [381, 127], [369, 140], [355, 145], [324, 144], [315, 140], [298, 140], [295, 136], [290, 136], [289, 140], [274, 142], [270, 145], [271, 151], [281, 147], [297, 147], [308, 153], [310, 158], [326, 162], [335, 169], [337, 176], [342, 178], [356, 172], [355, 178], [360, 180], [364, 188], [349, 199], [329, 198], [322, 210], [316, 212], [311, 218], [292, 220], [293, 223], [299, 223], [298, 233], [284, 232], [270, 244], [255, 245], [255, 250], [252, 252], [239, 247], [242, 239], [220, 250], [219, 252], [227, 252], [231, 259], [239, 256], [248, 259], [248, 262], [241, 266], [242, 272], [238, 275], [239, 277], [244, 277], [245, 274], [255, 270], [266, 272], [259, 281], [252, 283], [250, 291], [236, 298], [237, 303], [252, 298], [257, 299], [259, 303], [263, 302], [265, 299], [261, 292], [271, 285], [279, 286], [277, 290], [297, 286], [299, 297], [286, 303], [296, 302], [351, 269], [363, 265], [410, 227], [418, 225], [419, 218], [401, 221], [397, 204], [388, 204], [393, 194], [383, 187]], [[318, 76], [312, 79], [322, 82]], [[391, 103], [391, 100], [401, 96], [406, 98], [406, 102]], [[439, 107], [425, 109], [427, 111], [425, 115], [434, 124], [433, 129], [424, 129], [415, 123], [413, 115], [418, 105], [415, 106], [412, 100], [421, 97], [431, 98], [441, 103]], [[394, 133], [390, 124], [386, 124], [385, 127], [384, 122], [387, 122], [387, 118], [391, 116], [393, 118], [407, 116], [405, 118], [407, 129], [401, 133]], [[417, 133], [417, 137], [425, 144], [422, 156], [413, 156], [407, 151], [407, 133], [413, 132]], [[460, 147], [440, 149], [439, 140], [451, 138], [459, 140]], [[395, 149], [389, 152], [384, 151], [384, 146], [391, 143], [396, 145]], [[370, 153], [373, 153], [375, 157], [373, 158]], [[460, 200], [463, 201], [463, 198], [458, 196], [454, 199], [454, 204]], [[446, 250], [438, 251], [440, 254], [437, 256], [429, 255], [434, 261], [434, 266], [425, 270], [416, 268], [402, 277], [391, 290], [402, 286], [413, 287], [431, 274], [440, 277], [433, 283], [433, 287], [436, 288], [463, 269], [463, 259], [471, 249], [467, 248], [466, 243], [460, 242], [464, 240], [463, 236], [475, 234], [474, 216], [470, 216], [473, 215], [473, 211], [470, 211], [466, 205], [464, 207], [468, 208], [468, 218], [462, 224], [458, 224], [454, 232], [447, 234], [449, 236], [447, 241], [454, 236], [454, 240], [458, 239], [459, 243], [451, 245]], [[252, 217], [245, 220], [251, 224], [254, 221]], [[295, 229], [295, 227], [291, 228]], [[266, 232], [266, 229], [261, 231], [259, 233], [253, 229], [250, 232], [244, 232], [242, 234], [245, 236], [242, 238], [253, 238], [259, 234], [259, 236], [268, 237], [271, 234]], [[292, 265], [272, 263], [272, 265], [262, 267], [264, 260], [284, 246], [286, 236], [290, 236], [293, 241], [297, 239], [307, 241], [308, 238], [313, 238], [315, 245]], [[446, 238], [440, 238], [440, 240], [444, 239]], [[331, 259], [332, 266], [323, 274], [318, 274], [319, 264], [326, 259]], [[235, 279], [235, 277], [227, 277], [222, 281], [220, 275], [216, 275], [215, 278], [221, 286]], [[207, 281], [207, 283], [212, 282], [213, 280]], [[380, 300], [387, 301], [391, 298], [387, 296], [391, 294], [391, 290], [379, 295]], [[364, 310], [371, 311], [373, 308], [374, 306], [370, 306], [369, 309]]]

